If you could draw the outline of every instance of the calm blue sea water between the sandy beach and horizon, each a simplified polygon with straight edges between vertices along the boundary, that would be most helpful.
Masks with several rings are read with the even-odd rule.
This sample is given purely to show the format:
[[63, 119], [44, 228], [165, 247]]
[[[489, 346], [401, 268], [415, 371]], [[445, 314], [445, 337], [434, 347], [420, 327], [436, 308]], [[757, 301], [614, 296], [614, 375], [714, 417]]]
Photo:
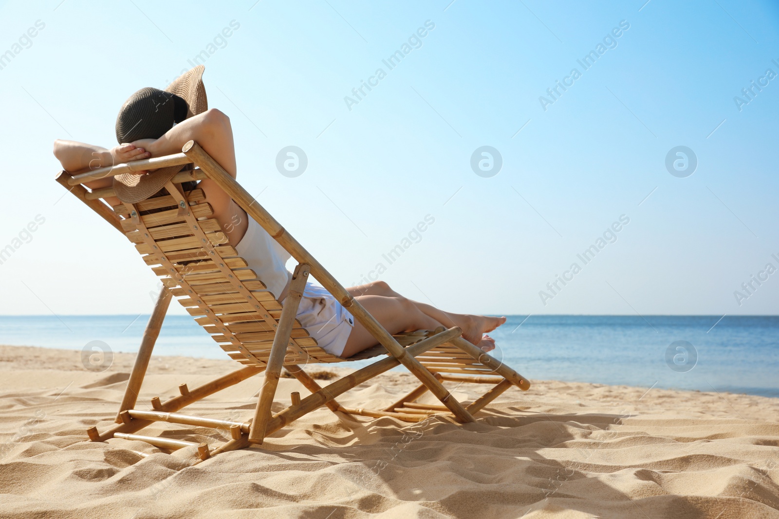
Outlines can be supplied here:
[[[147, 319], [147, 315], [0, 316], [0, 344], [82, 349], [87, 342], [100, 340], [115, 352], [134, 352]], [[656, 384], [779, 396], [779, 316], [717, 319], [510, 316], [492, 332], [499, 345], [494, 355], [531, 380]], [[165, 319], [154, 352], [228, 358], [188, 316]]]

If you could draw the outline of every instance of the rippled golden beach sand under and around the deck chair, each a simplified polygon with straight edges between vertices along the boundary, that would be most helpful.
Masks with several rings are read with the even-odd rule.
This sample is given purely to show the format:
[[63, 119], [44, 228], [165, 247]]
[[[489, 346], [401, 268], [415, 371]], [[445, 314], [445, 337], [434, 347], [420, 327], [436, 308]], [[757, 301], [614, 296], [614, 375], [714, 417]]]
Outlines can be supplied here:
[[[0, 517], [779, 517], [777, 398], [533, 380], [478, 423], [355, 423], [323, 408], [263, 448], [192, 466], [193, 447], [84, 441], [87, 427], [111, 422], [133, 357], [116, 354], [92, 373], [79, 352], [0, 346]], [[236, 366], [155, 357], [138, 408]], [[187, 410], [248, 418], [261, 381]], [[414, 385], [386, 373], [340, 401], [381, 409]], [[476, 388], [453, 394], [474, 398]], [[308, 394], [291, 379], [279, 389], [274, 409], [291, 391]], [[173, 424], [149, 430], [212, 446], [227, 439]]]

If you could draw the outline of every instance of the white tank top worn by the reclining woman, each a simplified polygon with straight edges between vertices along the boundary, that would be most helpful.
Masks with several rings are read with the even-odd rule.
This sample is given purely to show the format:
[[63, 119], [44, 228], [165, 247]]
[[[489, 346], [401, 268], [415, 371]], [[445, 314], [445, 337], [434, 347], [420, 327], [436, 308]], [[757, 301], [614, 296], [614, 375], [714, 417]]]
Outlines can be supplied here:
[[246, 233], [235, 246], [235, 250], [256, 273], [257, 279], [265, 283], [273, 297], [278, 299], [292, 276], [286, 266], [291, 254], [273, 240], [251, 216]]

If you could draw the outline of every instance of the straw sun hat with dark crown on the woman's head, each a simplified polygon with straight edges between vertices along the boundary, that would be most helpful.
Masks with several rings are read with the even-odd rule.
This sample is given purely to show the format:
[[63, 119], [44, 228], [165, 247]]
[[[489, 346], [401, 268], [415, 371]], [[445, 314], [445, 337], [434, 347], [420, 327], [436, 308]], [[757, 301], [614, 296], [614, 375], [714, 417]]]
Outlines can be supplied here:
[[[166, 89], [143, 88], [132, 94], [116, 117], [116, 140], [119, 144], [138, 139], [159, 139], [174, 123], [208, 110], [203, 72], [198, 65], [185, 72]], [[135, 203], [157, 193], [182, 166], [162, 167], [152, 173], [125, 173], [114, 177], [114, 191], [122, 202]]]

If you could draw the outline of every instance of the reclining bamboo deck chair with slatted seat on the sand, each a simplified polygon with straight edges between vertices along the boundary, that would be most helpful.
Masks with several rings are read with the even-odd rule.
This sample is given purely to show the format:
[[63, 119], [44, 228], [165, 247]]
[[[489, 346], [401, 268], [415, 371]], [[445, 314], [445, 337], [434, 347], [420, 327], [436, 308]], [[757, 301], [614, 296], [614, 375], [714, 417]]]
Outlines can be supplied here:
[[[82, 185], [98, 178], [131, 171], [189, 163], [194, 165], [194, 169], [176, 174], [166, 185], [167, 195], [156, 195], [136, 204], [124, 203], [111, 208], [102, 198], [113, 196], [112, 188], [90, 191]], [[210, 206], [203, 202], [203, 191], [182, 191], [182, 182], [202, 180], [206, 177], [220, 185], [299, 262], [294, 270], [284, 306], [266, 290], [262, 280], [256, 279], [255, 272], [248, 268], [243, 258], [238, 257], [235, 249], [226, 244], [227, 237], [221, 232], [217, 220], [210, 218]], [[474, 421], [475, 412], [488, 405], [510, 386], [516, 385], [523, 390], [530, 387], [526, 378], [460, 337], [460, 328], [446, 330], [441, 327], [435, 331], [390, 335], [319, 261], [308, 254], [308, 251], [196, 142], [188, 142], [182, 153], [174, 155], [138, 160], [75, 176], [62, 171], [57, 175], [57, 181], [128, 237], [143, 256], [146, 265], [150, 265], [154, 274], [160, 276], [164, 284], [146, 326], [122, 404], [118, 409], [116, 425], [103, 432], [91, 427], [87, 431], [90, 440], [104, 441], [118, 437], [143, 440], [157, 447], [174, 450], [197, 444], [139, 436], [135, 433], [154, 421], [229, 430], [232, 439], [213, 451], [206, 444], [197, 445], [200, 458], [206, 459], [220, 452], [262, 444], [263, 439], [270, 434], [322, 405], [326, 405], [333, 412], [371, 417], [393, 416], [409, 422], [421, 421], [434, 413], [447, 412], [451, 413], [456, 421], [467, 423]], [[295, 319], [308, 275], [315, 276], [372, 333], [378, 343], [375, 347], [348, 359], [330, 355], [319, 348], [315, 339], [310, 337], [308, 331]], [[190, 389], [186, 384], [181, 384], [181, 395], [165, 402], [161, 402], [159, 397], [152, 398], [153, 411], [134, 409], [154, 342], [173, 296], [178, 297], [178, 302], [212, 335], [228, 356], [244, 366], [199, 387]], [[301, 364], [340, 363], [381, 355], [385, 357], [326, 387], [320, 387], [301, 368]], [[413, 373], [421, 384], [386, 409], [350, 409], [335, 400], [345, 391], [401, 364]], [[272, 413], [271, 405], [283, 368], [311, 391], [311, 395], [301, 399], [298, 394], [293, 393], [291, 406]], [[177, 413], [192, 402], [263, 371], [265, 377], [252, 419], [235, 422]], [[492, 384], [493, 387], [465, 406], [449, 394], [449, 390], [443, 385], [446, 381]], [[426, 391], [431, 391], [441, 405], [416, 402]]]

